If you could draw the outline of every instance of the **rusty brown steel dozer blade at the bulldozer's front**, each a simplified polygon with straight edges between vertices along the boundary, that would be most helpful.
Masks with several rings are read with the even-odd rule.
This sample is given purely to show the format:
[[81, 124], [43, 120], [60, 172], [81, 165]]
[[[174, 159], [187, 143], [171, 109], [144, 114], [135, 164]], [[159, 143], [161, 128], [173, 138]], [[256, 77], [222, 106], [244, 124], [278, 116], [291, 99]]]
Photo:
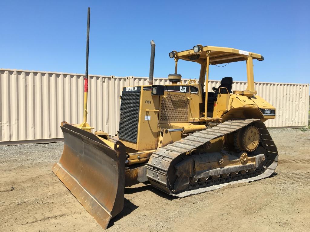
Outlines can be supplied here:
[[[62, 123], [63, 124], [63, 123]], [[53, 173], [104, 229], [124, 206], [125, 146], [63, 124], [64, 151]]]

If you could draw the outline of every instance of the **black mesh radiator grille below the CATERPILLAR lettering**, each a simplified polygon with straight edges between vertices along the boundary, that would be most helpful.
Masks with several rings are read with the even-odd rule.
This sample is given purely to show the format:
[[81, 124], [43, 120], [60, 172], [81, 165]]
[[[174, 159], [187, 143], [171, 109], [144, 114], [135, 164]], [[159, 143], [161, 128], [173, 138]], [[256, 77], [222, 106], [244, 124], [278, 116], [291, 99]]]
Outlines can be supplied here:
[[118, 137], [137, 142], [140, 91], [122, 92]]

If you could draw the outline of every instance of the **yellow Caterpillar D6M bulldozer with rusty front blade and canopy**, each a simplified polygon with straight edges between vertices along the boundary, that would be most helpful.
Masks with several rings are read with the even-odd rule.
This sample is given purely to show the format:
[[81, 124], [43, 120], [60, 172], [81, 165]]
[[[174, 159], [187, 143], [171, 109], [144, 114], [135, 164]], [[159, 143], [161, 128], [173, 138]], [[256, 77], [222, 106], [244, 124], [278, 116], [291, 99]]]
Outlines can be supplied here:
[[[52, 172], [102, 228], [122, 211], [125, 187], [137, 183], [183, 198], [275, 171], [277, 147], [264, 122], [276, 109], [257, 95], [253, 75], [253, 60], [263, 61], [262, 55], [202, 45], [174, 50], [170, 84], [153, 85], [151, 41], [148, 85], [122, 89], [116, 136], [92, 133], [86, 122], [87, 57], [83, 122], [61, 123], [64, 150]], [[182, 82], [180, 59], [200, 65], [198, 80]], [[232, 90], [232, 77], [224, 77], [208, 92], [209, 67], [233, 62], [246, 64], [247, 88]]]

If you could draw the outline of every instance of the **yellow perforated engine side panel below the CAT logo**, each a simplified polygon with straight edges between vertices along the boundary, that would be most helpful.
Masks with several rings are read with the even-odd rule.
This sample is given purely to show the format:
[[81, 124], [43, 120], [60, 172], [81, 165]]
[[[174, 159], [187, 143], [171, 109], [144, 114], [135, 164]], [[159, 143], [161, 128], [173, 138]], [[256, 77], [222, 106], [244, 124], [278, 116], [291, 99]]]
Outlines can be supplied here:
[[168, 93], [162, 98], [160, 122], [188, 122], [188, 101], [184, 94]]

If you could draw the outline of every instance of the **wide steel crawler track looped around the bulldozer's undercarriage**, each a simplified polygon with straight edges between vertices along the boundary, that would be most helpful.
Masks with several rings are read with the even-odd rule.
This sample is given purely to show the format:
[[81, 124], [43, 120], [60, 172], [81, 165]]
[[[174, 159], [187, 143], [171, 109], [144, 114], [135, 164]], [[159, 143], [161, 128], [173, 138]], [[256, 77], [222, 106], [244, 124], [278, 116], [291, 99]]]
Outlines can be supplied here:
[[[180, 193], [174, 193], [171, 190], [173, 188], [173, 183], [169, 183], [169, 173], [167, 173], [171, 161], [180, 155], [191, 153], [194, 149], [206, 144], [210, 140], [235, 132], [251, 123], [255, 123], [255, 126], [259, 129], [260, 142], [265, 148], [265, 156], [267, 159], [264, 169], [257, 169], [246, 174], [239, 173], [234, 177], [229, 175], [228, 177], [218, 178], [217, 180], [192, 183], [188, 186], [187, 191]], [[277, 167], [277, 159], [277, 147], [263, 122], [259, 119], [229, 120], [212, 128], [196, 131], [186, 138], [157, 149], [150, 157], [146, 168], [148, 180], [153, 187], [170, 195], [185, 197], [219, 189], [228, 184], [251, 182], [269, 177]]]

